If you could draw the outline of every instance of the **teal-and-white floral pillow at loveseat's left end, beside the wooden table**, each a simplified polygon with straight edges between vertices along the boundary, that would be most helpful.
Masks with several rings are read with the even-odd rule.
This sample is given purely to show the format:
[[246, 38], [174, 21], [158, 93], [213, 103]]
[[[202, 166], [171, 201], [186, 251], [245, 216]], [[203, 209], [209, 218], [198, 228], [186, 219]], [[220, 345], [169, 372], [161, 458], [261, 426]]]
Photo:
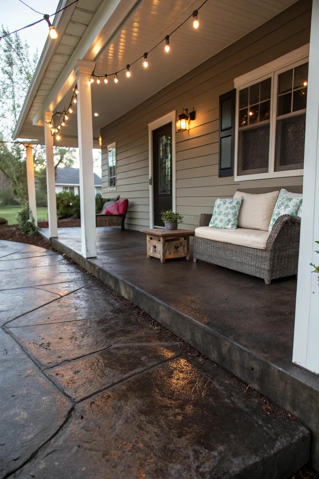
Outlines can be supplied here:
[[236, 229], [241, 204], [242, 196], [239, 198], [217, 198], [215, 201], [213, 216], [209, 222], [209, 227]]

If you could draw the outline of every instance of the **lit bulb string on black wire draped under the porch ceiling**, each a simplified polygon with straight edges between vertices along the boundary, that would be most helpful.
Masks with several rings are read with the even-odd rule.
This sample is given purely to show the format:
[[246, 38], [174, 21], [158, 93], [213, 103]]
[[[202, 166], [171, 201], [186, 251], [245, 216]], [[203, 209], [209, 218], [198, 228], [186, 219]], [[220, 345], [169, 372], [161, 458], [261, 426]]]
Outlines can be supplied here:
[[[114, 75], [114, 80], [116, 80], [116, 83], [118, 82], [118, 73], [121, 73], [122, 71], [126, 71], [127, 73], [130, 72], [130, 67], [132, 65], [134, 65], [134, 63], [138, 62], [139, 60], [141, 60], [142, 58], [144, 58], [144, 61], [147, 61], [147, 56], [149, 53], [151, 53], [155, 48], [157, 48], [162, 42], [166, 42], [166, 45], [168, 44], [169, 45], [169, 37], [176, 32], [176, 30], [178, 30], [178, 28], [180, 28], [182, 25], [184, 25], [184, 23], [186, 23], [191, 17], [194, 17], [194, 14], [196, 13], [196, 19], [197, 19], [197, 13], [198, 13], [198, 10], [203, 6], [205, 5], [205, 3], [207, 2], [208, 0], [205, 0], [203, 1], [203, 3], [197, 8], [197, 10], [195, 10], [193, 13], [191, 13], [185, 20], [183, 23], [181, 23], [180, 25], [178, 25], [169, 35], [165, 35], [165, 38], [163, 38], [162, 40], [160, 40], [155, 46], [153, 46], [148, 52], [145, 52], [143, 55], [141, 55], [141, 57], [138, 57], [136, 60], [134, 60], [132, 63], [128, 63], [126, 65], [126, 67], [124, 68], [121, 68], [120, 70], [118, 71], [115, 71], [114, 73], [110, 73], [109, 75], [108, 74], [105, 74], [105, 75], [95, 75], [95, 68], [96, 68], [96, 64], [95, 64], [95, 67], [92, 71], [92, 74], [91, 74], [91, 81], [89, 81], [88, 83], [92, 82], [92, 79], [94, 81], [94, 78], [97, 78], [98, 81], [97, 83], [100, 83], [100, 77], [104, 77], [104, 81], [105, 83], [108, 82], [107, 80], [107, 77], [108, 76], [112, 76]], [[75, 2], [73, 2], [75, 3]], [[193, 2], [194, 3], [194, 2]], [[70, 4], [72, 5], [72, 3]], [[192, 5], [192, 4], [191, 4]], [[195, 18], [195, 17], [194, 17]], [[127, 75], [128, 77], [130, 75]], [[68, 114], [71, 114], [73, 113], [73, 110], [72, 110], [72, 106], [77, 103], [77, 85], [74, 87], [73, 89], [73, 95], [72, 95], [72, 98], [71, 98], [71, 101], [69, 103], [69, 106], [67, 108], [65, 108], [62, 112], [55, 112], [54, 114], [52, 114], [52, 117], [51, 117], [51, 120], [50, 121], [46, 121], [47, 124], [49, 124], [51, 126], [51, 134], [57, 139], [57, 140], [60, 140], [60, 135], [59, 133], [61, 132], [61, 129], [62, 127], [65, 125], [66, 121], [68, 120]], [[54, 118], [55, 116], [59, 116], [59, 120], [58, 120], [58, 124], [57, 125], [54, 125]], [[62, 118], [62, 120], [61, 120]]]

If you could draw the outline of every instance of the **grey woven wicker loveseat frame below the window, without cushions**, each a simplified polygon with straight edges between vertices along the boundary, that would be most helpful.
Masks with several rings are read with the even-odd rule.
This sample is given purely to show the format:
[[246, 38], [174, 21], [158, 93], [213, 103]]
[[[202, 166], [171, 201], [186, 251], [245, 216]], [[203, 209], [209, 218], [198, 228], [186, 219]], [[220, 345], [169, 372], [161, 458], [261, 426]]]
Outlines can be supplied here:
[[[209, 226], [210, 218], [211, 214], [201, 214], [199, 226]], [[277, 218], [265, 250], [195, 236], [194, 262], [203, 260], [251, 274], [270, 285], [272, 279], [297, 274], [299, 236], [300, 218], [290, 215]]]

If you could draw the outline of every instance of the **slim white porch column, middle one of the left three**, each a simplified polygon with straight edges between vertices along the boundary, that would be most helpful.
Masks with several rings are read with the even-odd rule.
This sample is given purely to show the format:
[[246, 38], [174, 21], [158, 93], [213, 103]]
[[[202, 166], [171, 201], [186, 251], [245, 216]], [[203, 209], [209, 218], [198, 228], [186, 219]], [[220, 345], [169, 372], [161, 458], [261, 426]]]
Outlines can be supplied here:
[[46, 155], [46, 192], [48, 197], [49, 237], [57, 238], [57, 216], [55, 198], [55, 168], [53, 162], [53, 136], [51, 127], [47, 123], [52, 114], [46, 112], [44, 118], [44, 140]]

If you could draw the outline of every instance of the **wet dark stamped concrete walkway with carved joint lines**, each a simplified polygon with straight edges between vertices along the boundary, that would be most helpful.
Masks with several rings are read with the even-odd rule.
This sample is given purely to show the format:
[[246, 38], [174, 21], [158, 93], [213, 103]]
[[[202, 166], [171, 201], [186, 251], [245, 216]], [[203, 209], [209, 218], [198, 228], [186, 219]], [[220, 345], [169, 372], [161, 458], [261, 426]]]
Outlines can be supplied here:
[[287, 478], [308, 430], [49, 250], [0, 241], [0, 477]]

